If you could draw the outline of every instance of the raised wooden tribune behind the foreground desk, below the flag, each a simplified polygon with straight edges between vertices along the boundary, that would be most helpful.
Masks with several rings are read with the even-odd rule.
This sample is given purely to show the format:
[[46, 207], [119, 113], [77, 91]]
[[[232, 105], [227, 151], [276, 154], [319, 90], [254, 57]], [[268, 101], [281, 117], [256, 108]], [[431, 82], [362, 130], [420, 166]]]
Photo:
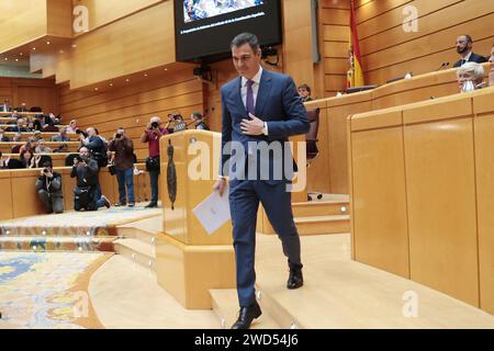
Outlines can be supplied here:
[[[487, 67], [487, 64], [484, 64]], [[489, 72], [489, 69], [485, 70]], [[352, 114], [427, 101], [459, 92], [457, 69], [448, 69], [381, 86], [371, 91], [316, 100], [319, 107], [318, 158], [307, 169], [308, 191], [348, 194], [347, 117]]]

